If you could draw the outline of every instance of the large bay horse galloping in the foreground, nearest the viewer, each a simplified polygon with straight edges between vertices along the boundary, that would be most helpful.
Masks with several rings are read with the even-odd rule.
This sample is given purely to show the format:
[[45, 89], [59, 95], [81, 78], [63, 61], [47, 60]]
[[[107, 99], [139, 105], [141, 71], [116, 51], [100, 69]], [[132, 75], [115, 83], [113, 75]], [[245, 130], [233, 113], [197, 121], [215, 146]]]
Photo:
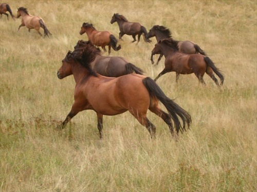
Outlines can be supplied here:
[[[89, 67], [92, 60], [94, 57], [83, 48], [69, 51], [62, 60], [62, 66], [57, 72], [58, 78], [73, 75], [76, 86], [74, 104], [65, 120], [58, 126], [59, 130], [79, 112], [93, 110], [97, 114], [97, 127], [102, 138], [103, 115], [114, 116], [128, 111], [146, 127], [153, 138], [156, 128], [146, 116], [148, 109], [168, 124], [175, 138], [179, 131], [189, 129], [190, 114], [168, 98], [153, 79], [139, 74], [105, 77]], [[159, 101], [166, 106], [168, 113], [160, 108]]]

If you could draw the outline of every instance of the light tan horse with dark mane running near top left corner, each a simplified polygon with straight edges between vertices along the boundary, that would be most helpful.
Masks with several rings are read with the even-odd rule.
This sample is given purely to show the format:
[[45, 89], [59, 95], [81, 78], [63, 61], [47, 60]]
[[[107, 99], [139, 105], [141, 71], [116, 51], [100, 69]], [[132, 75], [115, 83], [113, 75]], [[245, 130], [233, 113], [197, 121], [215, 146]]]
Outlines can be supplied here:
[[26, 26], [29, 29], [35, 29], [36, 31], [38, 31], [38, 33], [40, 35], [42, 35], [40, 33], [40, 28], [42, 27], [44, 29], [44, 37], [47, 35], [49, 37], [49, 35], [51, 35], [51, 33], [48, 31], [44, 20], [39, 17], [39, 16], [33, 16], [30, 15], [27, 11], [26, 8], [24, 7], [20, 7], [17, 11], [17, 18], [19, 18], [20, 16], [22, 16], [22, 24], [19, 26], [18, 31], [20, 30], [21, 27]]

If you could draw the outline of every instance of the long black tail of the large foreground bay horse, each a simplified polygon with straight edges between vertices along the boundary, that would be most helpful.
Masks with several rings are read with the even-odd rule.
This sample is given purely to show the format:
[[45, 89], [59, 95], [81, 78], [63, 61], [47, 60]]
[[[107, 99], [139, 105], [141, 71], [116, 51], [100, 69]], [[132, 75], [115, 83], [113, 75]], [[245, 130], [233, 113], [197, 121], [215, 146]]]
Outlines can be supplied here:
[[[143, 84], [148, 90], [151, 97], [156, 97], [168, 110], [172, 120], [175, 124], [176, 132], [179, 131], [182, 133], [186, 131], [186, 126], [189, 129], [189, 126], [192, 122], [190, 114], [183, 110], [178, 104], [176, 104], [172, 99], [167, 97], [156, 82], [150, 77], [143, 79]], [[181, 118], [183, 125], [181, 125], [178, 116]]]

